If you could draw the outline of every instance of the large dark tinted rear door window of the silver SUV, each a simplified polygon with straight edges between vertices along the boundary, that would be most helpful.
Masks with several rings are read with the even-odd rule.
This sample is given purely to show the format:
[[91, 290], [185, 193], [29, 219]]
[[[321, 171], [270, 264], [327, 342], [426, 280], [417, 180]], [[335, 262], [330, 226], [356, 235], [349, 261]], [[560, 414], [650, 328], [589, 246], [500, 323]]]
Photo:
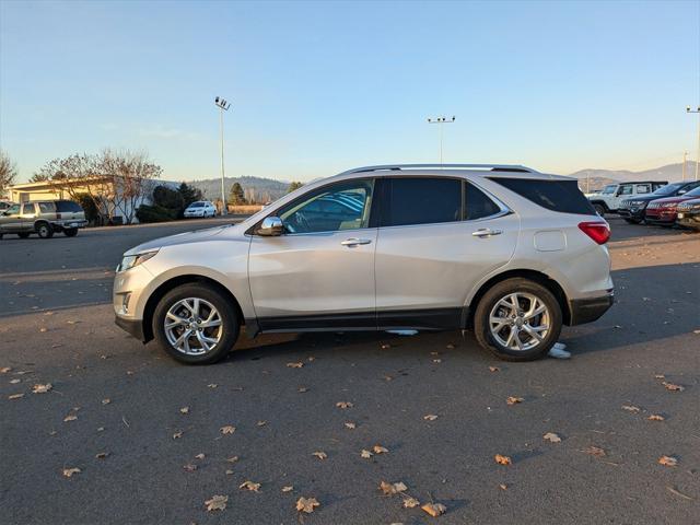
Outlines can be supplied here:
[[382, 202], [382, 226], [462, 220], [462, 180], [442, 177], [389, 177]]

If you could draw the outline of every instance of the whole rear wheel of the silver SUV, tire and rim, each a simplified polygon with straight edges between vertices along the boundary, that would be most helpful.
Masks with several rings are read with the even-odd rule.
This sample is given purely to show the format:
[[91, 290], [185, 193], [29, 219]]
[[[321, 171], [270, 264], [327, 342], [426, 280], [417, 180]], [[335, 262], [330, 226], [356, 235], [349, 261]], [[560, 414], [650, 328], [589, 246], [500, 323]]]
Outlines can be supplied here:
[[508, 279], [479, 301], [474, 328], [479, 343], [505, 361], [532, 361], [545, 355], [561, 334], [561, 307], [544, 285]]

